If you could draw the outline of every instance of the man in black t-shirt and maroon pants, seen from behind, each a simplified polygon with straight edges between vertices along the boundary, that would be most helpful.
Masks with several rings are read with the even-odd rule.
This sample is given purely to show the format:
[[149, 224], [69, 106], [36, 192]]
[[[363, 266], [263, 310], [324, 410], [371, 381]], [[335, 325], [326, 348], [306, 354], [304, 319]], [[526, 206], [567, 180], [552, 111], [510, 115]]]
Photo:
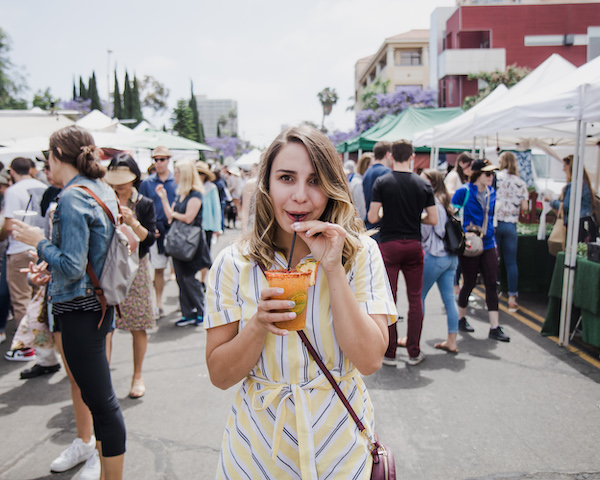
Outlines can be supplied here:
[[[408, 364], [418, 365], [425, 359], [419, 348], [423, 327], [423, 247], [421, 223], [435, 225], [437, 210], [431, 185], [411, 171], [415, 158], [412, 144], [400, 140], [392, 145], [393, 171], [379, 177], [373, 185], [373, 198], [367, 217], [369, 222], [381, 220], [379, 249], [397, 299], [400, 270], [406, 282], [408, 297], [407, 337], [400, 344], [408, 349]], [[383, 212], [381, 208], [383, 207]], [[396, 365], [398, 332], [390, 328], [388, 350], [383, 363]]]

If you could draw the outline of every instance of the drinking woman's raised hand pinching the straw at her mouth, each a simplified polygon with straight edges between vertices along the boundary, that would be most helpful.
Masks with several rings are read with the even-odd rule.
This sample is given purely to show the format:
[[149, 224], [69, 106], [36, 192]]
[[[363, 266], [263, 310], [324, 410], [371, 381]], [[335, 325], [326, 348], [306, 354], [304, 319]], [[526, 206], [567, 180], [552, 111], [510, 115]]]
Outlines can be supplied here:
[[311, 220], [296, 222], [292, 228], [302, 235], [302, 240], [310, 248], [315, 260], [319, 260], [325, 272], [342, 264], [346, 230], [340, 225]]

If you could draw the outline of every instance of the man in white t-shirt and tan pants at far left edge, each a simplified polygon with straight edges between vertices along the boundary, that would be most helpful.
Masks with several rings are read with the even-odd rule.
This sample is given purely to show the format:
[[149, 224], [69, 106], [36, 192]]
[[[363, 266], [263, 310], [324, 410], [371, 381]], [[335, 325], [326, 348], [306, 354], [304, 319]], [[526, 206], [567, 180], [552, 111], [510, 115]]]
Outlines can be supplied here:
[[[10, 175], [13, 185], [6, 190], [4, 196], [4, 216], [6, 221], [0, 230], [0, 240], [8, 237], [8, 249], [6, 250], [6, 278], [10, 298], [13, 305], [13, 313], [17, 327], [21, 318], [25, 315], [27, 305], [33, 295], [33, 287], [27, 282], [27, 273], [21, 269], [27, 269], [32, 258], [29, 256], [29, 245], [14, 239], [11, 234], [12, 220], [23, 220], [29, 224], [43, 227], [43, 219], [40, 215], [40, 201], [48, 186], [29, 174], [31, 162], [28, 158], [17, 157], [10, 165]], [[23, 211], [35, 212], [36, 215], [25, 216]], [[9, 236], [10, 235], [10, 236]]]

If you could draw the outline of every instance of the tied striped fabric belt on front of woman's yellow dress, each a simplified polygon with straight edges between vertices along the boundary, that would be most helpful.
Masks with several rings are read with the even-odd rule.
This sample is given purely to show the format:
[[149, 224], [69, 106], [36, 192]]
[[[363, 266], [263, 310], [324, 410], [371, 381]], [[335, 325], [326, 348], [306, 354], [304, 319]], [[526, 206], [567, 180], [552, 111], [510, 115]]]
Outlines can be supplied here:
[[[343, 377], [334, 375], [335, 381], [351, 380], [358, 375], [358, 370], [353, 369]], [[364, 393], [357, 383], [361, 395]], [[283, 435], [283, 426], [287, 418], [289, 406], [288, 399], [293, 399], [296, 406], [296, 432], [298, 435], [298, 452], [300, 456], [300, 472], [303, 479], [318, 479], [316, 458], [312, 452], [315, 451], [312, 427], [310, 426], [310, 390], [333, 390], [327, 377], [322, 373], [306, 383], [279, 383], [265, 380], [264, 378], [248, 376], [248, 387], [252, 389], [250, 395], [252, 408], [256, 412], [265, 411], [278, 397], [277, 411], [275, 414], [275, 426], [271, 442], [271, 458], [276, 460], [279, 452], [279, 442]], [[262, 399], [262, 406], [260, 400]]]

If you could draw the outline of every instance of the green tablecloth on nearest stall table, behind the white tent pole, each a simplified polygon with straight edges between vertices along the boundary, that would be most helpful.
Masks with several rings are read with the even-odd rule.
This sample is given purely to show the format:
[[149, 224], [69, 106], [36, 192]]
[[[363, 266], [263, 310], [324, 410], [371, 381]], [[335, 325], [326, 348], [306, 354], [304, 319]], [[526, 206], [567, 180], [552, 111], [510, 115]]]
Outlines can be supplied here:
[[[558, 335], [564, 263], [565, 253], [561, 252], [556, 257], [548, 291], [548, 309], [542, 335]], [[573, 285], [573, 324], [579, 316], [583, 341], [600, 347], [600, 263], [578, 256]]]

